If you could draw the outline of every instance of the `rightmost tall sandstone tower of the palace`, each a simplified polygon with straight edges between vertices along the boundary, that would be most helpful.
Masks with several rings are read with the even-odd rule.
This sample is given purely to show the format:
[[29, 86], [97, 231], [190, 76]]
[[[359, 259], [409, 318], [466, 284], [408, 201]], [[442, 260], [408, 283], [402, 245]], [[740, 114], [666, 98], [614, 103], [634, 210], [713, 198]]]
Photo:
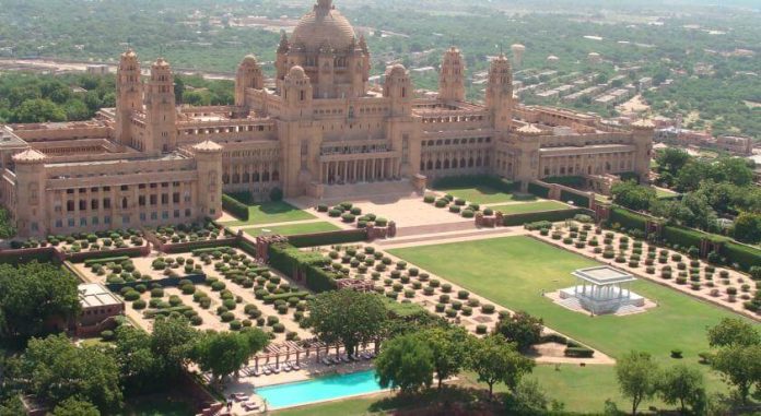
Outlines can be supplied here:
[[494, 58], [489, 68], [487, 108], [492, 114], [494, 128], [510, 131], [513, 126], [513, 69], [504, 54]]

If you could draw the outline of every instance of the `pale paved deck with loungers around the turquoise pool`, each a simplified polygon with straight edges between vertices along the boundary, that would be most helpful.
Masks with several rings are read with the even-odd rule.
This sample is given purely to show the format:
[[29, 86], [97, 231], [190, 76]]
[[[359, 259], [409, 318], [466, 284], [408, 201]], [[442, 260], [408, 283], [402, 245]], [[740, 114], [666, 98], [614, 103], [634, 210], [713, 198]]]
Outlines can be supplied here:
[[[332, 376], [332, 375], [346, 375], [346, 373], [351, 373], [351, 372], [370, 370], [373, 368], [372, 361], [349, 362], [349, 364], [342, 364], [342, 365], [336, 365], [336, 366], [328, 367], [321, 362], [315, 362], [314, 360], [309, 360], [309, 362], [302, 362], [302, 366], [303, 366], [303, 368], [298, 371], [281, 372], [279, 375], [259, 376], [259, 377], [249, 377], [249, 376], [241, 375], [241, 377], [238, 377], [237, 379], [231, 380], [224, 390], [225, 397], [230, 397], [232, 394], [236, 394], [236, 393], [243, 393], [243, 394], [250, 396], [248, 401], [234, 402], [233, 408], [232, 408], [232, 414], [236, 415], [236, 416], [245, 416], [245, 415], [256, 415], [256, 414], [265, 413], [265, 411], [268, 408], [265, 404], [264, 397], [256, 394], [256, 389], [258, 389], [258, 388], [277, 385], [277, 384], [285, 384], [285, 383], [294, 383], [294, 382], [298, 382], [298, 381], [307, 381], [307, 380], [315, 379], [318, 377]], [[377, 394], [377, 393], [378, 392], [372, 392], [372, 393], [367, 393], [367, 394], [356, 394], [356, 395], [352, 395], [352, 396], [364, 396], [364, 395]], [[341, 397], [336, 397], [336, 399], [330, 399], [330, 400], [325, 400], [325, 401], [298, 404], [298, 405], [294, 405], [294, 406], [277, 407], [277, 409], [308, 406], [308, 405], [313, 405], [316, 403], [331, 402], [331, 401], [343, 400], [343, 399], [348, 399], [348, 397], [341, 396]], [[254, 412], [248, 412], [244, 408], [244, 404], [246, 404], [246, 403], [256, 403], [259, 405], [259, 409], [254, 411]], [[272, 409], [276, 409], [276, 408], [270, 408], [269, 411], [272, 411]]]

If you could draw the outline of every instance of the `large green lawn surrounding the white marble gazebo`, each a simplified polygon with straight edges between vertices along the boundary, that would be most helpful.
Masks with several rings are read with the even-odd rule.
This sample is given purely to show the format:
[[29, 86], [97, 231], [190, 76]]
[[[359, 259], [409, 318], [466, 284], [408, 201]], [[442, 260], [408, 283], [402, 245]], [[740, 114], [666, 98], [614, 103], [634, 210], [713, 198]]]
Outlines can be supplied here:
[[629, 317], [595, 317], [573, 312], [542, 297], [573, 286], [570, 273], [595, 265], [592, 260], [529, 237], [508, 237], [450, 245], [390, 250], [409, 263], [457, 283], [513, 310], [526, 310], [545, 323], [613, 357], [644, 350], [660, 361], [680, 348], [686, 362], [696, 362], [709, 349], [707, 326], [735, 314], [647, 281], [632, 290], [658, 307]]

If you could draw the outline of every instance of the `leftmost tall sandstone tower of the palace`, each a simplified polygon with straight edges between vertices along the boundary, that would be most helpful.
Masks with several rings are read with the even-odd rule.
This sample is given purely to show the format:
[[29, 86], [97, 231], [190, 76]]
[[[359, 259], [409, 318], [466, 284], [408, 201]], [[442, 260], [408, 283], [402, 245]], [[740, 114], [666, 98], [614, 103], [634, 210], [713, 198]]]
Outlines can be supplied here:
[[132, 49], [121, 54], [116, 70], [116, 141], [132, 145], [132, 114], [142, 110], [140, 62]]

